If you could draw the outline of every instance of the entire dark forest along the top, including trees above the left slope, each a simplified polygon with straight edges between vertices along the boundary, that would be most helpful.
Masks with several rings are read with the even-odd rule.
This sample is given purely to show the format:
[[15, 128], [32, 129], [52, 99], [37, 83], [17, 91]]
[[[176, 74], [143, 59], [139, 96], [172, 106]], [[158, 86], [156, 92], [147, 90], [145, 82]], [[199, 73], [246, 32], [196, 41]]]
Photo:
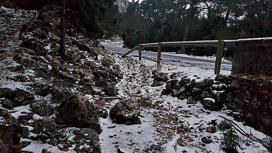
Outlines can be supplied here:
[[[11, 2], [21, 9], [39, 10], [45, 5], [60, 6], [61, 1]], [[130, 2], [126, 12], [119, 11], [116, 0], [66, 0], [66, 8], [66, 19], [84, 35], [119, 36], [126, 48], [140, 43], [272, 36], [272, 0], [143, 0]], [[198, 50], [211, 56], [216, 48]]]

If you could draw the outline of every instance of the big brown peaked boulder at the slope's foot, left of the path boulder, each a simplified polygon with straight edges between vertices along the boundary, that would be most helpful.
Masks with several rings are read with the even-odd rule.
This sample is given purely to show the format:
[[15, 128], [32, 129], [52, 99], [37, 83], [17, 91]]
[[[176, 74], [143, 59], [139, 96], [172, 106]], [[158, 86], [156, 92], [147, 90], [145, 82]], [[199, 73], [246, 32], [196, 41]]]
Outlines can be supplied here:
[[65, 124], [78, 128], [92, 128], [98, 133], [102, 131], [94, 106], [82, 93], [71, 96], [61, 107], [57, 117]]

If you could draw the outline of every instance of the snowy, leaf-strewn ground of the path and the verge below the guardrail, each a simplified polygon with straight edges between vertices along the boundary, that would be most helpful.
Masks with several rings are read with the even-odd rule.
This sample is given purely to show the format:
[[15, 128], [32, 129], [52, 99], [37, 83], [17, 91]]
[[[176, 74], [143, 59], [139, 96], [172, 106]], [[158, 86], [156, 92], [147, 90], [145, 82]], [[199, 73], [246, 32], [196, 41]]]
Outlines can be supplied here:
[[[220, 147], [220, 133], [215, 134], [206, 132], [206, 127], [212, 126], [211, 122], [219, 123], [223, 119], [219, 115], [233, 120], [227, 116], [230, 110], [222, 110], [220, 112], [208, 111], [203, 108], [202, 104], [186, 104], [185, 100], [179, 100], [176, 97], [161, 95], [162, 87], [150, 87], [153, 83], [151, 79], [151, 70], [155, 69], [156, 62], [146, 59], [138, 61], [137, 57], [129, 56], [120, 58], [119, 55], [114, 55], [117, 64], [120, 64], [121, 70], [124, 72], [124, 79], [117, 84], [120, 89], [120, 97], [149, 97], [155, 107], [144, 107], [141, 110], [139, 125], [123, 125], [113, 123], [110, 117], [100, 119], [103, 132], [100, 134], [100, 144], [102, 152], [112, 153], [117, 152], [117, 147], [120, 147], [125, 152], [224, 152]], [[161, 71], [175, 75], [175, 78], [188, 76], [190, 79], [200, 81], [204, 78], [215, 78], [212, 68], [203, 68], [203, 63], [192, 63], [192, 65], [182, 66], [185, 61], [181, 61], [181, 66], [172, 65], [174, 61], [164, 61]], [[147, 66], [143, 69], [141, 66]], [[186, 64], [185, 64], [186, 65]], [[141, 68], [140, 68], [141, 67]], [[229, 70], [222, 70], [222, 74], [230, 74]], [[158, 103], [158, 101], [162, 101]], [[117, 100], [113, 100], [108, 106], [111, 108]], [[236, 122], [236, 121], [235, 121]], [[264, 138], [265, 135], [254, 130], [249, 126], [243, 126], [243, 123], [236, 122], [240, 127], [248, 133], [252, 133], [258, 138]], [[108, 128], [108, 127], [114, 128]], [[188, 133], [181, 133], [180, 127], [188, 126], [191, 128]], [[200, 128], [205, 130], [199, 130]], [[140, 131], [140, 132], [139, 132]], [[110, 138], [109, 136], [113, 136]], [[203, 136], [210, 137], [214, 143], [206, 144], [201, 142]], [[244, 141], [249, 142], [250, 146], [243, 146], [243, 150], [239, 153], [266, 153], [268, 152], [260, 143], [252, 142], [251, 140], [239, 135]], [[182, 140], [183, 145], [177, 144], [177, 139]], [[202, 146], [203, 145], [203, 146]]]

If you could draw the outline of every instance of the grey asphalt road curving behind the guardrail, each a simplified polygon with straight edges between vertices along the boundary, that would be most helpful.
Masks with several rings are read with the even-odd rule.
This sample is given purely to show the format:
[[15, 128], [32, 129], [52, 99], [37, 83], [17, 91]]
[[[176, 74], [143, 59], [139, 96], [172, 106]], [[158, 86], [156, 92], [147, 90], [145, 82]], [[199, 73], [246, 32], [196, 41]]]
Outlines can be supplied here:
[[[111, 50], [113, 52], [118, 52], [118, 53], [126, 53], [130, 50], [130, 49], [126, 49], [126, 48], [117, 47], [118, 44], [119, 43], [108, 43], [108, 44], [103, 44], [103, 46], [108, 50]], [[130, 54], [138, 55], [138, 50], [136, 50]], [[142, 51], [142, 56], [157, 57], [157, 53]], [[181, 57], [181, 56], [165, 55], [165, 54], [161, 54], [161, 57], [168, 58], [168, 59], [176, 59], [176, 60], [215, 63], [215, 61], [213, 61], [213, 60], [198, 59], [198, 58], [193, 58], [193, 57]], [[230, 63], [230, 62], [222, 62], [222, 64], [232, 65], [232, 63]]]

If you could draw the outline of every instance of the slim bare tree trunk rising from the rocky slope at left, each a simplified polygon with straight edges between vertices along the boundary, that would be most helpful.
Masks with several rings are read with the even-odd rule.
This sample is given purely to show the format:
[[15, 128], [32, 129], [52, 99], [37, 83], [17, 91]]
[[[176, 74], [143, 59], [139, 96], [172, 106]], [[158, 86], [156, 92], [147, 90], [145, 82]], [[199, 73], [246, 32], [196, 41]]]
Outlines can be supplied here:
[[59, 48], [59, 56], [63, 57], [65, 54], [65, 0], [62, 0], [62, 10], [61, 10], [61, 37], [60, 37], [60, 48]]

